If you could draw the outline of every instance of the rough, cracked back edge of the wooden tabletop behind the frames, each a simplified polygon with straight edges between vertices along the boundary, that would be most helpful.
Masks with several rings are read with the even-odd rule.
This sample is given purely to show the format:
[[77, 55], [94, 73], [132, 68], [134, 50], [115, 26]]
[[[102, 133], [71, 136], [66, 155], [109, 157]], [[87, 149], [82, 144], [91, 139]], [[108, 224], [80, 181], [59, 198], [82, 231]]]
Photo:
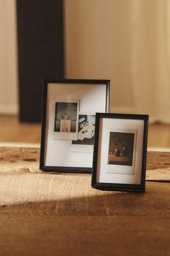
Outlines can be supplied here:
[[[0, 148], [1, 173], [44, 174], [39, 169], [39, 161], [39, 148]], [[148, 152], [146, 180], [170, 181], [170, 152]]]

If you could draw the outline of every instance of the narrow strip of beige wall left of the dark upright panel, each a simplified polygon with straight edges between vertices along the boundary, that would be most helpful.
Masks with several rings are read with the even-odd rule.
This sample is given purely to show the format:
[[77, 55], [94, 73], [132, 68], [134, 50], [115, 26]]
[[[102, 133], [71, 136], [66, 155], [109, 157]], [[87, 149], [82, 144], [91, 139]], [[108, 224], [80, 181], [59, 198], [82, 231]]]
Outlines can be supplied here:
[[0, 0], [0, 114], [16, 114], [17, 25], [15, 0]]

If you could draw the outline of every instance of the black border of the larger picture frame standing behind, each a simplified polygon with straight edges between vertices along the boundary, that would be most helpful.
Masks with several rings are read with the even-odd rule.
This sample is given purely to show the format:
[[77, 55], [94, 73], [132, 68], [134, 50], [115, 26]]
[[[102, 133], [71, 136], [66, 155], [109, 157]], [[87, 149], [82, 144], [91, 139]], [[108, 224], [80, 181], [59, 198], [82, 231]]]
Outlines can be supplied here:
[[109, 112], [109, 90], [110, 80], [84, 80], [84, 79], [45, 79], [43, 82], [43, 94], [42, 94], [42, 128], [41, 128], [41, 146], [40, 146], [40, 170], [42, 171], [58, 171], [67, 173], [88, 173], [91, 174], [92, 168], [87, 167], [65, 167], [65, 166], [45, 166], [45, 124], [46, 124], [46, 109], [47, 109], [47, 95], [48, 84], [66, 83], [70, 84], [94, 84], [94, 85], [106, 85], [106, 107], [105, 111]]

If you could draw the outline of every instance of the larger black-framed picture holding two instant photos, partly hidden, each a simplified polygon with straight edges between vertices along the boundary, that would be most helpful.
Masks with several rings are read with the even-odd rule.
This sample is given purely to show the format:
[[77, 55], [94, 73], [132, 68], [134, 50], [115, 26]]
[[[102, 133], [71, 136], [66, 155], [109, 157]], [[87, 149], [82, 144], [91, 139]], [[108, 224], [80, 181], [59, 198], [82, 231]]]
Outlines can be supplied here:
[[99, 111], [109, 111], [109, 80], [44, 81], [42, 171], [91, 173]]

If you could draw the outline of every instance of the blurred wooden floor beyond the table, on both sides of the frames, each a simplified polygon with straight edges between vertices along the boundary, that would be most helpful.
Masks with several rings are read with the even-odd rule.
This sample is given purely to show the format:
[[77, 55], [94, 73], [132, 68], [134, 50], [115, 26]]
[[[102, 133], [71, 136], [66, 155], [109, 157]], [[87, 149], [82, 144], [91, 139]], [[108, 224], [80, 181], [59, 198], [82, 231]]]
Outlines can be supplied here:
[[[0, 142], [40, 143], [41, 124], [20, 123], [17, 116], [0, 116]], [[150, 124], [149, 148], [170, 148], [170, 124]]]

